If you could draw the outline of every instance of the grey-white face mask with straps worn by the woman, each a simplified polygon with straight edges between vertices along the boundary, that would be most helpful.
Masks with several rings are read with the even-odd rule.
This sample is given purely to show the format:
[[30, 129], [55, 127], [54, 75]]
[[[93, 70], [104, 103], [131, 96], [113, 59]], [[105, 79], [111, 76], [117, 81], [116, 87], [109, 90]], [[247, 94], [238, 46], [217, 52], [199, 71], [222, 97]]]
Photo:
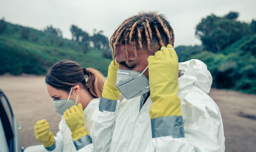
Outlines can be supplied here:
[[54, 105], [55, 111], [57, 113], [63, 115], [63, 113], [67, 109], [69, 109], [72, 105], [76, 105], [78, 94], [76, 95], [76, 102], [74, 100], [70, 99], [70, 95], [72, 93], [72, 89], [73, 89], [73, 86], [72, 86], [72, 88], [70, 90], [69, 98], [68, 99], [53, 100], [53, 105]]

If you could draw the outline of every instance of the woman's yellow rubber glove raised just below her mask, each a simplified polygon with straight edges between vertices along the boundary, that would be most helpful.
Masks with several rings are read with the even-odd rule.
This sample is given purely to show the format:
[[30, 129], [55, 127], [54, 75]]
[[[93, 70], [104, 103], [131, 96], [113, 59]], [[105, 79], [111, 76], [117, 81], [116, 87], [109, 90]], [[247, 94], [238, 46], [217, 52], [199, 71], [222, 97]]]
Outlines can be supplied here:
[[66, 124], [70, 128], [73, 141], [76, 141], [81, 137], [88, 135], [86, 132], [86, 127], [83, 126], [84, 115], [81, 103], [79, 103], [78, 106], [72, 105], [68, 110], [66, 110], [66, 112], [64, 112], [63, 115]]

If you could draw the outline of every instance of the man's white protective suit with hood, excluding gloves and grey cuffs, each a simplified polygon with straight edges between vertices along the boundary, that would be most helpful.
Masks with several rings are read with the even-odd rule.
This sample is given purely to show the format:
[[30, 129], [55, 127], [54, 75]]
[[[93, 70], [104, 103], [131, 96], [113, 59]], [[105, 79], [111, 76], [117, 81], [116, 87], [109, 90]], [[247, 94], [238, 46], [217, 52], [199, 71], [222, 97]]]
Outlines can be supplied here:
[[225, 151], [220, 110], [207, 95], [212, 83], [210, 72], [196, 59], [180, 62], [179, 69], [183, 74], [178, 79], [178, 96], [185, 138], [152, 138], [149, 115], [152, 101], [148, 97], [143, 104], [145, 95], [142, 95], [124, 99], [115, 112], [99, 112], [92, 128], [93, 143], [79, 151]]

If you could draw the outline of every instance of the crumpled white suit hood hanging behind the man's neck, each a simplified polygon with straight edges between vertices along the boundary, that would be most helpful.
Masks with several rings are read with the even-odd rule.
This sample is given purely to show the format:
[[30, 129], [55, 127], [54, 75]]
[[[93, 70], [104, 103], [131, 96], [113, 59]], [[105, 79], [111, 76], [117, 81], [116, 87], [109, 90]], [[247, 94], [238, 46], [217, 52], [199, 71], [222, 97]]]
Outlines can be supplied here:
[[180, 73], [183, 74], [179, 80], [179, 90], [184, 89], [187, 85], [196, 85], [205, 93], [210, 92], [212, 77], [207, 70], [205, 63], [198, 59], [191, 59], [179, 63]]

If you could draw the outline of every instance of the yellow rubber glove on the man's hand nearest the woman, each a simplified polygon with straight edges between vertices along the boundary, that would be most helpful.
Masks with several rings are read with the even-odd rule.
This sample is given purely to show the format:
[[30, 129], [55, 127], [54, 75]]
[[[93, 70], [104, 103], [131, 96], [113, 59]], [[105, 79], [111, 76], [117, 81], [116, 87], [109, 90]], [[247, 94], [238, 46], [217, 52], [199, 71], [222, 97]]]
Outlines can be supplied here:
[[116, 77], [118, 68], [119, 64], [115, 61], [114, 65], [114, 61], [111, 61], [108, 71], [108, 78], [104, 83], [102, 91], [102, 97], [106, 99], [117, 100], [121, 95], [121, 92], [116, 88]]

